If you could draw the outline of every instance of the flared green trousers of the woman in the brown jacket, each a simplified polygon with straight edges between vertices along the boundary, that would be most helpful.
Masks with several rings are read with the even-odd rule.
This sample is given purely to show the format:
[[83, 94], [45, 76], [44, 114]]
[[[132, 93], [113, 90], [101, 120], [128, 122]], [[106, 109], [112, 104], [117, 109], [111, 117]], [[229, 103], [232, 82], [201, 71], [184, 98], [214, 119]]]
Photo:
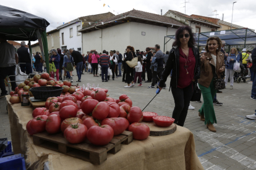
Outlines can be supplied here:
[[213, 79], [211, 80], [211, 84], [208, 88], [200, 84], [198, 85], [203, 94], [203, 105], [198, 111], [200, 115], [205, 115], [205, 124], [217, 123], [215, 111], [213, 108], [213, 99], [215, 97], [217, 90], [215, 90]]

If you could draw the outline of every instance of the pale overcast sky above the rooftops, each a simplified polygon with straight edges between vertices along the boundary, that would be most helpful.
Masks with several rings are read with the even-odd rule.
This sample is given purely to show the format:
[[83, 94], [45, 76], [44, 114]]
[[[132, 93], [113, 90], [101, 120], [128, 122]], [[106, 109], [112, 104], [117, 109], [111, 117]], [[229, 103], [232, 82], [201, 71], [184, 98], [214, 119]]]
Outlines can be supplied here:
[[[224, 14], [224, 21], [226, 22], [231, 22], [233, 2], [236, 2], [234, 4], [233, 24], [256, 30], [256, 0], [186, 1], [189, 2], [186, 3], [187, 15], [196, 14], [215, 18], [214, 14], [219, 14], [217, 15], [217, 18], [221, 19], [222, 14]], [[105, 12], [112, 12], [117, 15], [117, 13], [121, 14], [123, 12], [136, 9], [154, 14], [161, 14], [161, 9], [163, 9], [164, 15], [169, 9], [171, 9], [185, 13], [184, 2], [185, 0], [8, 0], [1, 1], [1, 5], [23, 10], [45, 18], [50, 23], [46, 31], [51, 31], [57, 26], [62, 25], [63, 22], [66, 23], [78, 17]], [[103, 4], [106, 4], [106, 6], [103, 7]], [[214, 10], [217, 10], [217, 13], [213, 12]]]

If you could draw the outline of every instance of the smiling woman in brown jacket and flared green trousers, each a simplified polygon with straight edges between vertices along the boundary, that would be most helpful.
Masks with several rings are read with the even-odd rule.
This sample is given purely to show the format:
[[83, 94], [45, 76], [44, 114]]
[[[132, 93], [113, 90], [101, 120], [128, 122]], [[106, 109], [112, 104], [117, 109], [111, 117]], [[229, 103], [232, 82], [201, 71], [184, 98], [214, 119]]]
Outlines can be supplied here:
[[201, 74], [198, 84], [203, 94], [203, 105], [198, 110], [198, 115], [212, 132], [216, 132], [213, 123], [217, 123], [213, 108], [213, 99], [217, 90], [215, 90], [213, 82], [215, 78], [221, 78], [221, 74], [225, 69], [224, 54], [220, 52], [221, 46], [222, 42], [218, 36], [208, 38], [205, 46], [206, 52], [200, 57]]

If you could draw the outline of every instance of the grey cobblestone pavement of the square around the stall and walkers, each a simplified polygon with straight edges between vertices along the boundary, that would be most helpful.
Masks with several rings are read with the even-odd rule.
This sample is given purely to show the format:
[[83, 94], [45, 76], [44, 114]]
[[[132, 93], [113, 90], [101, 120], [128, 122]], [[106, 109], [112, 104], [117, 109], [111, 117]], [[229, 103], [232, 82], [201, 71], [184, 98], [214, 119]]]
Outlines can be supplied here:
[[[75, 71], [73, 72], [75, 73]], [[75, 74], [76, 75], [76, 74]], [[77, 76], [74, 76], [76, 84]], [[158, 94], [144, 111], [154, 111], [158, 115], [171, 116], [174, 109], [173, 95], [167, 88]], [[249, 79], [247, 79], [249, 81]], [[149, 83], [142, 83], [142, 87], [125, 89], [122, 78], [115, 78], [108, 83], [101, 82], [101, 78], [93, 77], [85, 73], [82, 75], [82, 83], [95, 84], [97, 87], [109, 89], [110, 97], [118, 98], [121, 94], [127, 94], [132, 99], [133, 105], [144, 108], [155, 96], [156, 89], [148, 89]], [[228, 83], [229, 87], [229, 83]], [[256, 109], [256, 101], [250, 99], [252, 84], [234, 83], [234, 89], [224, 89], [217, 94], [217, 99], [223, 106], [214, 106], [217, 123], [217, 132], [208, 131], [206, 125], [198, 117], [198, 109], [202, 103], [191, 102], [195, 110], [189, 110], [184, 127], [193, 132], [195, 138], [195, 150], [205, 169], [256, 169], [256, 123], [245, 118], [252, 115]], [[6, 111], [6, 101], [0, 99], [0, 138], [11, 139], [9, 120]]]

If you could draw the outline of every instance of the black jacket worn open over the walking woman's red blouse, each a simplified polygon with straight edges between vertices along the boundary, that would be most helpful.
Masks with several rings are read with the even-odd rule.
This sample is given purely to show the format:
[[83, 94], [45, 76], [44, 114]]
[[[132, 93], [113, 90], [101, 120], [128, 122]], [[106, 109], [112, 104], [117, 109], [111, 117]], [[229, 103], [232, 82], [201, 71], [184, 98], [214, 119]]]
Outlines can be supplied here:
[[[194, 79], [195, 81], [197, 81], [197, 79], [200, 78], [200, 55], [197, 48], [193, 47], [192, 50], [195, 56]], [[169, 57], [167, 59], [163, 74], [161, 76], [159, 84], [160, 87], [164, 86], [164, 82], [166, 82], [166, 79], [170, 75], [171, 70], [173, 70], [173, 75], [171, 76], [170, 87], [173, 86], [177, 88], [177, 82], [179, 80], [179, 47], [177, 46], [173, 47], [173, 49], [171, 49], [169, 53]]]

